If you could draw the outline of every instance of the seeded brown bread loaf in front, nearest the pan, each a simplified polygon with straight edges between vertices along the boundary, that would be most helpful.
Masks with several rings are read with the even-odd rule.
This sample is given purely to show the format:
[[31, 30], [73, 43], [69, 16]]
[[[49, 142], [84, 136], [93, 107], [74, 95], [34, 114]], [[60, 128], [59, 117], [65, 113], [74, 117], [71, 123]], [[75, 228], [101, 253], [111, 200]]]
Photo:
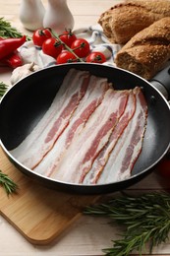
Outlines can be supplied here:
[[117, 53], [117, 67], [151, 79], [170, 59], [170, 17], [138, 32]]

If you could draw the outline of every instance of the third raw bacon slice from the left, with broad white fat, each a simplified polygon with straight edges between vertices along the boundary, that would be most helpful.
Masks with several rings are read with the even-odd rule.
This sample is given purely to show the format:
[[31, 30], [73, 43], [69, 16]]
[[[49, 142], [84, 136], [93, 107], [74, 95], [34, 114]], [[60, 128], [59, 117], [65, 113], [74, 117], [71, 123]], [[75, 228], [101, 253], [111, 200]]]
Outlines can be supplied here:
[[123, 114], [129, 93], [108, 90], [102, 103], [88, 119], [79, 137], [73, 141], [58, 169], [51, 177], [73, 183], [82, 183], [93, 160], [108, 139]]

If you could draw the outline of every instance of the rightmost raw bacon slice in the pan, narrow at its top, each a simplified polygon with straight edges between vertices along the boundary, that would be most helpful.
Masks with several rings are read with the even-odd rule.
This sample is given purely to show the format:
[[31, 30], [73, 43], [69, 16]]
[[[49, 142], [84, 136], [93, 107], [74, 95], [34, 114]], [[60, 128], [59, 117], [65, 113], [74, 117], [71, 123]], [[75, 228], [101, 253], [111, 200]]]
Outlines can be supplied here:
[[136, 89], [137, 106], [133, 118], [118, 140], [98, 184], [126, 179], [142, 151], [142, 141], [146, 127], [147, 105], [140, 88]]

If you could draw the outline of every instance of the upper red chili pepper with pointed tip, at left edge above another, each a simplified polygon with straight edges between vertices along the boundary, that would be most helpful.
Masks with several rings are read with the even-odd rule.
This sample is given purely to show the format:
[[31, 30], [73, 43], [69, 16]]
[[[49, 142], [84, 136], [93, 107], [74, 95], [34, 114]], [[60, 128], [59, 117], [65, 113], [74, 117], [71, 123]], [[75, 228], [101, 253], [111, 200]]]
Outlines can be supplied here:
[[0, 60], [17, 50], [26, 41], [26, 35], [20, 38], [0, 40]]

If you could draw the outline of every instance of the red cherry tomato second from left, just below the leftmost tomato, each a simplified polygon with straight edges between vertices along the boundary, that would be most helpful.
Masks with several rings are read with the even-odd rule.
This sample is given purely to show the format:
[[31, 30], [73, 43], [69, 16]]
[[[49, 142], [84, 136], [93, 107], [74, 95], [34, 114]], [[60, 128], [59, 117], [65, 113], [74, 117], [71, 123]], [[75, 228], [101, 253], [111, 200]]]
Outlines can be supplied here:
[[54, 37], [46, 39], [42, 44], [42, 51], [53, 58], [57, 58], [62, 48], [62, 43]]

